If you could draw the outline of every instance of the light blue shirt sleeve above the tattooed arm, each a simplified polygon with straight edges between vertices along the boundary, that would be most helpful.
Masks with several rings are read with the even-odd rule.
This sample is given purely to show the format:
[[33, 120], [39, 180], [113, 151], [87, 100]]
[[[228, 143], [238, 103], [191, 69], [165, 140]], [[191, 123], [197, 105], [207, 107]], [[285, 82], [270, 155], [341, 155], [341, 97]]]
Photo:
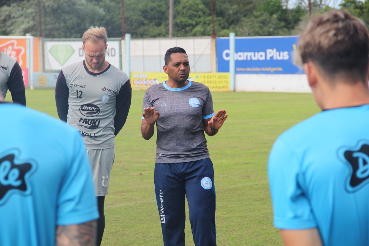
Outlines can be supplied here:
[[75, 148], [69, 153], [66, 170], [58, 196], [56, 224], [81, 224], [99, 218], [92, 170], [85, 146], [75, 132]]

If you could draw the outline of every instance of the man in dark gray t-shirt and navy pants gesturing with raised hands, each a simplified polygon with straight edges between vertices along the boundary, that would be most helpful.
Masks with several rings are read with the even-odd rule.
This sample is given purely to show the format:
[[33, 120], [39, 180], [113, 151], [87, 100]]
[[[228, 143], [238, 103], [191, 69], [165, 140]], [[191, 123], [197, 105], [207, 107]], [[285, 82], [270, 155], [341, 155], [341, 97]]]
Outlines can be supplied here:
[[154, 135], [156, 123], [155, 195], [165, 246], [184, 246], [185, 197], [196, 246], [216, 245], [214, 168], [206, 146], [227, 119], [214, 114], [208, 87], [187, 80], [186, 51], [174, 47], [165, 53], [168, 80], [146, 90], [141, 133]]

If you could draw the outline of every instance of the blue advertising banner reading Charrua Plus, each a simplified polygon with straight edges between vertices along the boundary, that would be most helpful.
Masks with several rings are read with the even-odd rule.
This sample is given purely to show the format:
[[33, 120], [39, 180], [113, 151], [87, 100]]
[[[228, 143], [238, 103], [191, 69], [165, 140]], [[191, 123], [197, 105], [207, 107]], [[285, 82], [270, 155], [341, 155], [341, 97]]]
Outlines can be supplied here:
[[[236, 73], [301, 74], [294, 65], [298, 36], [238, 37], [235, 39]], [[217, 38], [218, 72], [229, 72], [229, 38]]]

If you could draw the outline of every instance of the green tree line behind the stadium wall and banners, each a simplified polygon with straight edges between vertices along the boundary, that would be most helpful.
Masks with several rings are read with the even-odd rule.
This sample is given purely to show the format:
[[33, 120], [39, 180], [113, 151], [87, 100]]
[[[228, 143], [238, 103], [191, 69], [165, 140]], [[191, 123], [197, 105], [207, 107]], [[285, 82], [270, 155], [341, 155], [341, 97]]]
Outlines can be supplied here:
[[[80, 38], [87, 27], [121, 37], [121, 0], [40, 0], [42, 36]], [[217, 37], [298, 35], [308, 21], [307, 0], [213, 0]], [[369, 24], [369, 0], [343, 0], [338, 8]], [[125, 0], [125, 30], [132, 38], [168, 37], [169, 0]], [[313, 14], [332, 10], [312, 1]], [[38, 0], [0, 0], [0, 35], [39, 36]], [[174, 0], [174, 36], [211, 36], [210, 0]]]

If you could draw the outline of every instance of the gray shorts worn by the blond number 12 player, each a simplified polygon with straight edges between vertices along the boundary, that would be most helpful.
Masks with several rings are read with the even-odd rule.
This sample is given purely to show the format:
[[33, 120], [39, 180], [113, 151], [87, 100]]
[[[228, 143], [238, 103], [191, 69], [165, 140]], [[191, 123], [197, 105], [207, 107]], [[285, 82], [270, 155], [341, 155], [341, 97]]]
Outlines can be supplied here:
[[110, 171], [114, 162], [114, 148], [86, 149], [92, 166], [95, 194], [97, 197], [108, 194]]

